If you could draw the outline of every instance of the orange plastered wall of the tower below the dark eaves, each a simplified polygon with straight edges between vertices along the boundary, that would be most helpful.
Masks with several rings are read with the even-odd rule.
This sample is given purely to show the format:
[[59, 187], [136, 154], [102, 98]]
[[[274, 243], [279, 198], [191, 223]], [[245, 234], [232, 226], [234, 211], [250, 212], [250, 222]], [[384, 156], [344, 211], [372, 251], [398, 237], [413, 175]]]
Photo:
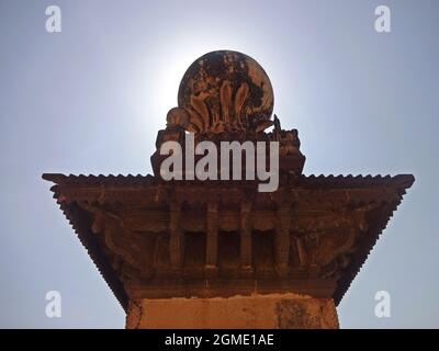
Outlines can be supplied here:
[[214, 298], [159, 298], [130, 303], [126, 328], [336, 329], [331, 298], [270, 294]]

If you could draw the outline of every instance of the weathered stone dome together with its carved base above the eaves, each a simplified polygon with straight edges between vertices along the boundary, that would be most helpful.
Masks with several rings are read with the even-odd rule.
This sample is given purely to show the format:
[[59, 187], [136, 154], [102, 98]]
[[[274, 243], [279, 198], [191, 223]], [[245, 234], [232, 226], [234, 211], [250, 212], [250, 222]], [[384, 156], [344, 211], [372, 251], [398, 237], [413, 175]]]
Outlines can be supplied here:
[[[158, 132], [151, 157], [156, 174], [166, 141], [184, 149], [184, 133], [195, 135], [195, 145], [237, 140], [279, 141], [280, 171], [301, 173], [305, 157], [300, 151], [297, 129], [284, 131], [273, 111], [273, 91], [262, 67], [251, 57], [229, 50], [205, 54], [184, 73], [178, 106], [167, 115], [166, 129]], [[273, 131], [266, 129], [273, 126]]]

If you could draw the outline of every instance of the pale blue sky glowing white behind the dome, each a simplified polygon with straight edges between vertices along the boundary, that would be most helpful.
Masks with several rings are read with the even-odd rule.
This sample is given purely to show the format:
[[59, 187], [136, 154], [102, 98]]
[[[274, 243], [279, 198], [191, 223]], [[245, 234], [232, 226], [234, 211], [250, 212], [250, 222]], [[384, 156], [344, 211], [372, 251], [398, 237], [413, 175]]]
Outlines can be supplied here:
[[[63, 32], [45, 31], [57, 4]], [[386, 4], [392, 33], [374, 31]], [[439, 327], [439, 2], [0, 0], [0, 327], [124, 327], [43, 172], [150, 172], [185, 68], [214, 49], [264, 67], [306, 174], [413, 173], [338, 307], [344, 328]], [[45, 293], [63, 317], [45, 316]], [[374, 316], [374, 294], [392, 317]]]

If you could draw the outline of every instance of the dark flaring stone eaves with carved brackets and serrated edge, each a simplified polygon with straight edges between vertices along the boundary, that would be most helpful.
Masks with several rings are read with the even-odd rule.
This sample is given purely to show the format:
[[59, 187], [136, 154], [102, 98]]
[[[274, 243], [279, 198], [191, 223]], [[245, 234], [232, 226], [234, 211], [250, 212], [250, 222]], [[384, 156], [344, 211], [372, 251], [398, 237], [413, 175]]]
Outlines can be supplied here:
[[412, 176], [248, 182], [44, 174], [124, 308], [128, 299], [296, 293], [338, 304]]

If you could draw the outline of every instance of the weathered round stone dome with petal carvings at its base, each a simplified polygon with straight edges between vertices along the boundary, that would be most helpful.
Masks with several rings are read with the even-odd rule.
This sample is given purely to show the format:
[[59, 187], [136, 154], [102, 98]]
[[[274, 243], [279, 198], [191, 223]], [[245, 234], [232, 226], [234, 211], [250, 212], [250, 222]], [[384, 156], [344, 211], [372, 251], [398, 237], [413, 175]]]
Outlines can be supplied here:
[[198, 58], [185, 71], [178, 105], [189, 114], [194, 133], [268, 127], [273, 89], [263, 68], [251, 57], [217, 50]]

